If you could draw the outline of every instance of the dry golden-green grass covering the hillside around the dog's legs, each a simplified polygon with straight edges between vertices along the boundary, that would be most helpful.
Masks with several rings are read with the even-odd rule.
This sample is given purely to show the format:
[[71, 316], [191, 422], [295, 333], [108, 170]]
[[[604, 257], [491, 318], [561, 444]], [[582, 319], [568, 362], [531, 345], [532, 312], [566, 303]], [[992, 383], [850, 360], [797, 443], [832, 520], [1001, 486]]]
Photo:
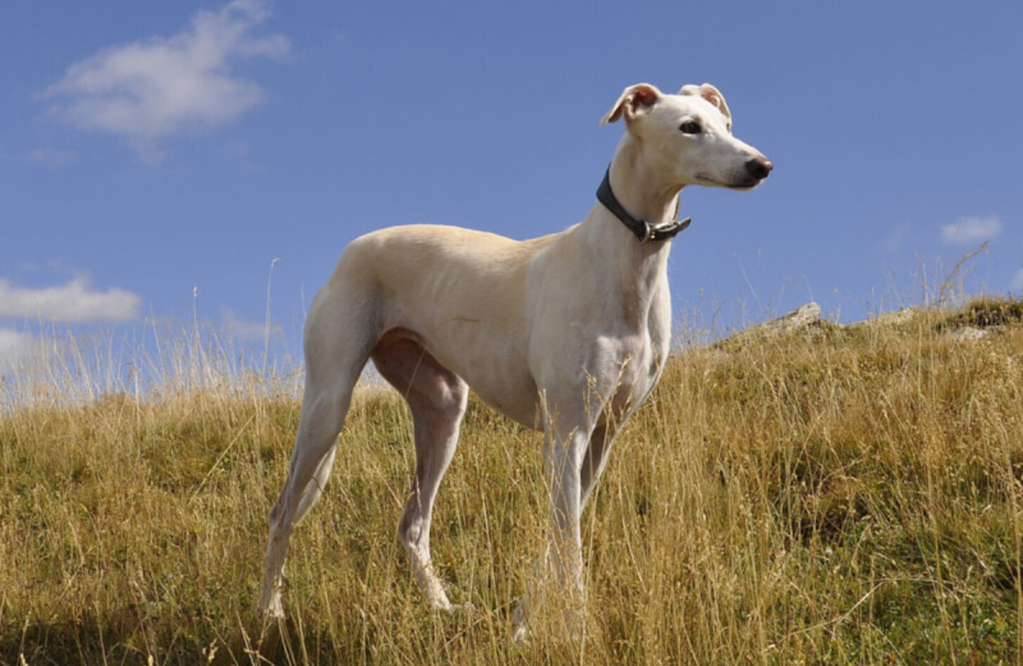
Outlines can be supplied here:
[[271, 626], [255, 606], [294, 398], [0, 411], [0, 662], [1019, 663], [1023, 326], [952, 342], [961, 316], [672, 359], [584, 515], [583, 645], [557, 604], [508, 640], [544, 539], [540, 442], [478, 403], [433, 539], [476, 611], [421, 602], [394, 536], [410, 419], [366, 391]]

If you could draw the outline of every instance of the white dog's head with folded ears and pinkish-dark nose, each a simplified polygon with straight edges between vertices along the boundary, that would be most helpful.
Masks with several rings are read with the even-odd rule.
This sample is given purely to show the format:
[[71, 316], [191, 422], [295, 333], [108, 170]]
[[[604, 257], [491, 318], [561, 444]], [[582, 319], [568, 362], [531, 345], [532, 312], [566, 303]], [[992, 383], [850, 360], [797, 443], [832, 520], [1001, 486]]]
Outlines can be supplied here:
[[638, 83], [629, 86], [601, 124], [625, 119], [626, 130], [644, 145], [647, 159], [679, 186], [752, 189], [773, 165], [731, 135], [731, 112], [714, 86], [683, 86], [676, 95]]

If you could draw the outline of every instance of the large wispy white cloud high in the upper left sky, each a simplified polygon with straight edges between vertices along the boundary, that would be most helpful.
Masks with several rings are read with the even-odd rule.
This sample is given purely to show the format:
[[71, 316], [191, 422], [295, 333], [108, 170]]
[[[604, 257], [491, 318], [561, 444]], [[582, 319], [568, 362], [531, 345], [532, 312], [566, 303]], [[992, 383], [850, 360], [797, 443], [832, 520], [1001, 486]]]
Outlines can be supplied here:
[[262, 89], [230, 65], [287, 53], [282, 35], [252, 34], [267, 15], [263, 0], [199, 11], [171, 37], [112, 46], [72, 64], [44, 97], [58, 99], [53, 113], [75, 127], [127, 138], [140, 157], [159, 160], [158, 139], [227, 123], [262, 101]]

